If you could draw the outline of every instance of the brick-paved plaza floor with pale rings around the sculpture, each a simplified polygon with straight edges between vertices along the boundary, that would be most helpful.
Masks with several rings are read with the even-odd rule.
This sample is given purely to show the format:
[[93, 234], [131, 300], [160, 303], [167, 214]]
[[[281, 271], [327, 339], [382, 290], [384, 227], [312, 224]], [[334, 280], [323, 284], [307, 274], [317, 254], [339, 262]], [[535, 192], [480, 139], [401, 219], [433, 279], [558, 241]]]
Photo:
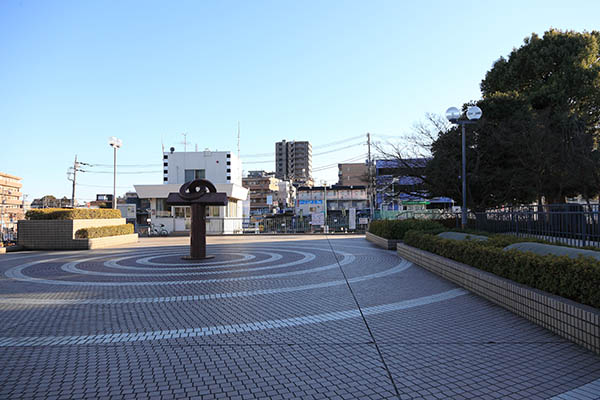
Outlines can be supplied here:
[[0, 256], [0, 398], [600, 398], [600, 357], [362, 237]]

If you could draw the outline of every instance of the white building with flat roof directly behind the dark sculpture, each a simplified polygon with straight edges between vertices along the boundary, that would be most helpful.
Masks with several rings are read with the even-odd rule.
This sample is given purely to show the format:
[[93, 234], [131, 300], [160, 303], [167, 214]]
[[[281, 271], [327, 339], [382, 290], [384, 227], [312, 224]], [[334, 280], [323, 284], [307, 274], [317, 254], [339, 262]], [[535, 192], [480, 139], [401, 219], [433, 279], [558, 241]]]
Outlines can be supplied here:
[[134, 185], [140, 199], [150, 201], [150, 218], [155, 225], [163, 224], [169, 232], [190, 230], [189, 206], [167, 206], [169, 193], [179, 191], [185, 182], [207, 179], [217, 192], [227, 194], [227, 206], [208, 206], [207, 234], [242, 233], [242, 203], [248, 189], [242, 187], [242, 166], [231, 152], [166, 152], [163, 155], [164, 183], [162, 185]]

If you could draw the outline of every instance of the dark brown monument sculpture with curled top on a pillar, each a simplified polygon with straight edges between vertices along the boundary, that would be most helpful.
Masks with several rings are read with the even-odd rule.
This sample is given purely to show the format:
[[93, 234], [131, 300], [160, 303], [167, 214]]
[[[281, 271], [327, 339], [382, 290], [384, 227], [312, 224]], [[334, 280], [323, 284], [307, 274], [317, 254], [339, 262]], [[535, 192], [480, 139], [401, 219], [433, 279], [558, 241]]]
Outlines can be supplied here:
[[169, 206], [190, 206], [192, 209], [190, 232], [190, 255], [186, 260], [204, 260], [206, 255], [206, 206], [226, 206], [227, 194], [217, 193], [217, 188], [206, 179], [186, 182], [179, 193], [169, 193]]

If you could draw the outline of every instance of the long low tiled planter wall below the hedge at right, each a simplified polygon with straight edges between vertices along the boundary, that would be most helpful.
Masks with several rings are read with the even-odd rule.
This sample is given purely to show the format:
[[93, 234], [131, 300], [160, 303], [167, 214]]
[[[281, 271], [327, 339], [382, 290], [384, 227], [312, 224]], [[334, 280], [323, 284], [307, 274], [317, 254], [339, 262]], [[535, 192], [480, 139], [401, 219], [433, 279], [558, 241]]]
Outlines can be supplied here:
[[403, 243], [398, 255], [600, 354], [600, 310]]

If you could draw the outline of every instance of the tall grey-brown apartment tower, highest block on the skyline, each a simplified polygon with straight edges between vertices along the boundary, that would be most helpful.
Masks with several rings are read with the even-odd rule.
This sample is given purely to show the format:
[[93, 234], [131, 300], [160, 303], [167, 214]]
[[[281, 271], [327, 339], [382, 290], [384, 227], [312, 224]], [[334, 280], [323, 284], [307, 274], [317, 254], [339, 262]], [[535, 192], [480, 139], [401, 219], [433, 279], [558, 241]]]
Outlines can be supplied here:
[[275, 143], [275, 176], [312, 186], [312, 146], [308, 141]]

